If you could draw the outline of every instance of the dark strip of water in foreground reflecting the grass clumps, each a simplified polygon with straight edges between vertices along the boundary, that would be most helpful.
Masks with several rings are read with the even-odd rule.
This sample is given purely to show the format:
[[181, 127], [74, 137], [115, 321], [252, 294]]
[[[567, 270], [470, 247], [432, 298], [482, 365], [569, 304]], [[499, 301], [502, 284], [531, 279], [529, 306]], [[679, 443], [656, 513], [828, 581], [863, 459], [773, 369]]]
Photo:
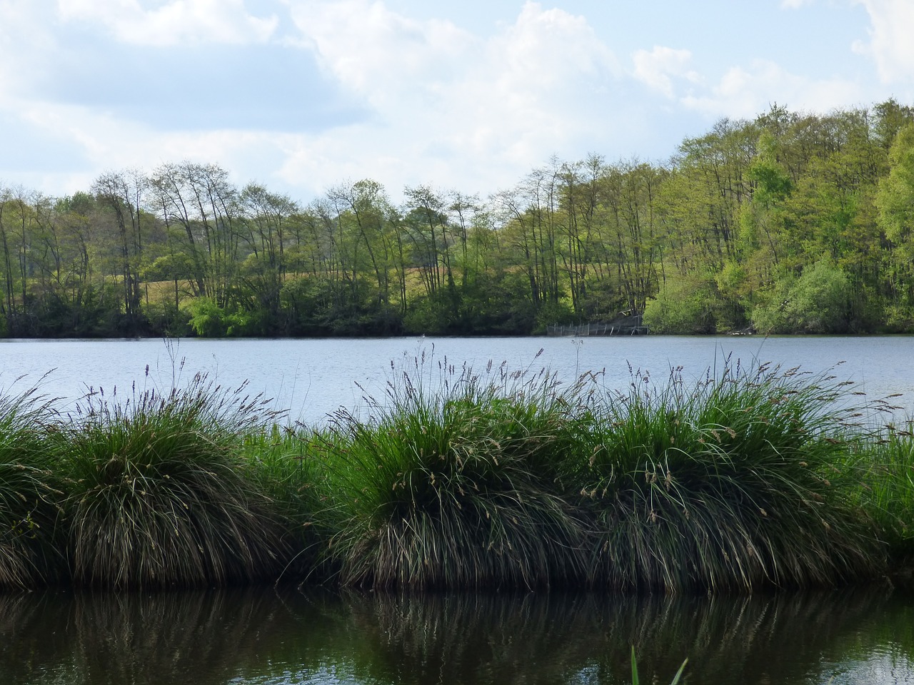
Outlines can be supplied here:
[[249, 589], [0, 595], [0, 682], [891, 683], [914, 599], [335, 595]]

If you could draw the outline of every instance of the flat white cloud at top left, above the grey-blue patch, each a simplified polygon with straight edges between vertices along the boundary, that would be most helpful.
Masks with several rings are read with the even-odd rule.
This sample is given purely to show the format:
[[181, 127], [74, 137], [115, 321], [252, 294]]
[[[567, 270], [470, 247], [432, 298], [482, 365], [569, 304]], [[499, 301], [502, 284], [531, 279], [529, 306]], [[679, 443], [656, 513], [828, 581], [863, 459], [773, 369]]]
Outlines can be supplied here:
[[[148, 5], [149, 3], [145, 3]], [[244, 0], [58, 0], [64, 21], [105, 26], [124, 43], [169, 46], [205, 42], [244, 45], [271, 37], [278, 20], [248, 13]]]

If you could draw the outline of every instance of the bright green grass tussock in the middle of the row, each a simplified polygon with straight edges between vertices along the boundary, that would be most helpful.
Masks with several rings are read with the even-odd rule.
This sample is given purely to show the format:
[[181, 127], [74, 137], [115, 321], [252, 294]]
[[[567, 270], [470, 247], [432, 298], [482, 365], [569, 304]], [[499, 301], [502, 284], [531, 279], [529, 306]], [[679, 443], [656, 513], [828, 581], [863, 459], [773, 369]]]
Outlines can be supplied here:
[[539, 469], [562, 443], [568, 405], [549, 374], [486, 375], [422, 364], [388, 404], [335, 416], [337, 494], [329, 553], [343, 585], [536, 587], [585, 565], [573, 507]]

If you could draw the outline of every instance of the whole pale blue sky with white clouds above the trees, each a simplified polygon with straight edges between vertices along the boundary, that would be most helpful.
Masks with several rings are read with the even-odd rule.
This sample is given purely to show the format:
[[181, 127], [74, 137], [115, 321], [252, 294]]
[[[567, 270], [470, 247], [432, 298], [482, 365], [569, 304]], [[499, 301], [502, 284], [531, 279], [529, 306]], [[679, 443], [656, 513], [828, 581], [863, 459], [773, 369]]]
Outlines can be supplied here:
[[187, 160], [485, 197], [775, 103], [914, 104], [911, 36], [914, 0], [0, 0], [0, 188]]

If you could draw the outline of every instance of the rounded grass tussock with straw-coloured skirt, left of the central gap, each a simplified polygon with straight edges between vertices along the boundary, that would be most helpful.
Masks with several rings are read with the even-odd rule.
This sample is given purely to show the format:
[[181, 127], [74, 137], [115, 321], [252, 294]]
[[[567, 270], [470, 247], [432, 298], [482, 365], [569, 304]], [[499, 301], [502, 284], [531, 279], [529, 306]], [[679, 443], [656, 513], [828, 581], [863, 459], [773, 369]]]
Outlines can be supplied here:
[[277, 573], [281, 526], [241, 456], [269, 412], [243, 393], [198, 374], [165, 395], [95, 394], [80, 405], [60, 447], [77, 585], [227, 585]]

